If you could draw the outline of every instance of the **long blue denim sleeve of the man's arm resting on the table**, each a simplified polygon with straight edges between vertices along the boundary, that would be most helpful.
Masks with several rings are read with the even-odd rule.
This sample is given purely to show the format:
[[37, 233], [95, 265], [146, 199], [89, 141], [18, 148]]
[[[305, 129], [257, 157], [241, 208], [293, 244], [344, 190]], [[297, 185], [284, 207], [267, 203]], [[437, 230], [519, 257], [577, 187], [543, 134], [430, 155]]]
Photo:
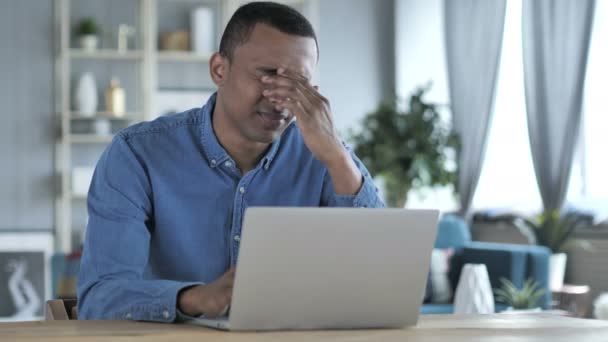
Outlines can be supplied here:
[[78, 279], [79, 319], [173, 322], [177, 294], [198, 283], [149, 280], [151, 187], [144, 166], [117, 136], [99, 160]]

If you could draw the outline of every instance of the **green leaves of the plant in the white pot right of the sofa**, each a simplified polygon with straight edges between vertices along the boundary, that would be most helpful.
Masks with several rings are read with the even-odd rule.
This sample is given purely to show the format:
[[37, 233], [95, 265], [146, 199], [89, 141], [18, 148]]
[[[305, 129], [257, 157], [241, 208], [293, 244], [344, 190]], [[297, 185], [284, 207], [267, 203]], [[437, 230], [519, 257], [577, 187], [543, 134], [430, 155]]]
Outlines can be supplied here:
[[515, 216], [512, 222], [531, 243], [561, 253], [575, 246], [590, 249], [588, 241], [572, 237], [579, 228], [590, 226], [590, 220], [589, 216], [576, 212], [564, 214], [559, 210], [545, 210], [533, 219]]

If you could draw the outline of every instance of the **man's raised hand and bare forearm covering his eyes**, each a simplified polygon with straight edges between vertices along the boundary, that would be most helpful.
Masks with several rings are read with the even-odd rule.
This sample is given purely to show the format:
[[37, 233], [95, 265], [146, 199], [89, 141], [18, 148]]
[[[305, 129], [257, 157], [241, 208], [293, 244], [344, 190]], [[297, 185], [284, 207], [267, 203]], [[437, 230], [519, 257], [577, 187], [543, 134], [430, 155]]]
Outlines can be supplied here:
[[276, 76], [263, 76], [262, 95], [277, 109], [287, 109], [297, 118], [304, 143], [330, 173], [336, 193], [354, 195], [361, 188], [361, 172], [336, 132], [329, 100], [308, 80], [285, 68]]

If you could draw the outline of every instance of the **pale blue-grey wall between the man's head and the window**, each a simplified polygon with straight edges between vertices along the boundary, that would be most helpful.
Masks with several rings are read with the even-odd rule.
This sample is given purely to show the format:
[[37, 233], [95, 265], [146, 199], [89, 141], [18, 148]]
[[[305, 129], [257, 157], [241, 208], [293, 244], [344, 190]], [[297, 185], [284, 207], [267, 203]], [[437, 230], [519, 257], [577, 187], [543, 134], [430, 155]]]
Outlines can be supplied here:
[[319, 2], [321, 93], [345, 132], [394, 92], [394, 1]]

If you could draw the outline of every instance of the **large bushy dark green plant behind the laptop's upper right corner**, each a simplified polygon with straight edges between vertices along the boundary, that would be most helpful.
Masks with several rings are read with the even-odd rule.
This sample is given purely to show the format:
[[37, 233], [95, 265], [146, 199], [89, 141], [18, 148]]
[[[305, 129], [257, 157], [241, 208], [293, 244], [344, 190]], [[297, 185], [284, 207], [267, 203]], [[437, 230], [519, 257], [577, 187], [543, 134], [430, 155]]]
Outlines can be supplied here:
[[442, 122], [439, 105], [424, 100], [430, 85], [414, 91], [408, 110], [397, 99], [381, 103], [350, 132], [357, 156], [382, 178], [388, 206], [402, 208], [412, 189], [455, 184], [459, 140]]

